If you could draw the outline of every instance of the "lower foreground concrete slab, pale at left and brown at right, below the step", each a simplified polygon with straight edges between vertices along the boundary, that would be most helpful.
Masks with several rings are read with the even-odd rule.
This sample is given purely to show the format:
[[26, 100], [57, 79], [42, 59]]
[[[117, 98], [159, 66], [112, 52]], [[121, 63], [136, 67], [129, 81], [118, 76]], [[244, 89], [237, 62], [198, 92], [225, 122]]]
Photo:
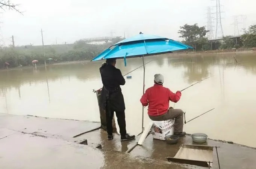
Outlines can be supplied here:
[[1, 129], [0, 133], [1, 137], [7, 135], [0, 138], [0, 166], [4, 169], [153, 169], [156, 166], [169, 169], [179, 166], [118, 151], [102, 151], [52, 138], [49, 134], [43, 136], [9, 129]]

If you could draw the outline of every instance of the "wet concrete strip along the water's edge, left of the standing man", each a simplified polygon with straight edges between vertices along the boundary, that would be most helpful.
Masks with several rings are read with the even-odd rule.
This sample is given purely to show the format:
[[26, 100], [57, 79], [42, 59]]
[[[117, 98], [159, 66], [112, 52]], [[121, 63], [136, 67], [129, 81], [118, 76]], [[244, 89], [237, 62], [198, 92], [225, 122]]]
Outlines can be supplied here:
[[100, 126], [100, 123], [90, 121], [0, 114], [0, 128], [25, 133], [40, 132], [73, 137]]

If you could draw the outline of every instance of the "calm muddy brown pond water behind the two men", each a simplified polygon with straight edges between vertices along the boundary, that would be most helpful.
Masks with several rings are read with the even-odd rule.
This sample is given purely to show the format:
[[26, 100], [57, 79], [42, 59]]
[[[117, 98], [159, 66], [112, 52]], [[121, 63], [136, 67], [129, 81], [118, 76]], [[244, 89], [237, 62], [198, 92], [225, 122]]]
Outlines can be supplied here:
[[[235, 59], [238, 61], [236, 64]], [[206, 133], [209, 138], [256, 147], [256, 53], [161, 55], [146, 57], [145, 87], [153, 85], [155, 73], [165, 77], [164, 86], [182, 90], [175, 108], [186, 112], [187, 133]], [[0, 71], [0, 112], [50, 118], [100, 121], [93, 89], [102, 87], [98, 68], [102, 62], [83, 61]], [[141, 66], [142, 59], [118, 60], [126, 74]], [[127, 132], [141, 132], [143, 69], [130, 73], [122, 87], [126, 103]], [[170, 102], [170, 106], [174, 103]], [[149, 118], [144, 109], [144, 126]], [[118, 126], [117, 126], [118, 127]]]

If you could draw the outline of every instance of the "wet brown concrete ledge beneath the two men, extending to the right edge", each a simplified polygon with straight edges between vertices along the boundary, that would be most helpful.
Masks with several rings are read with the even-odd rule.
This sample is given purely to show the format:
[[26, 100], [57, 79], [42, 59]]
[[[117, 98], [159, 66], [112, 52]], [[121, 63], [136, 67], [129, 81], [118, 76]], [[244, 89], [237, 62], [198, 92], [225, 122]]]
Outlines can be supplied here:
[[[103, 150], [127, 151], [133, 144], [138, 142], [140, 136], [135, 140], [121, 142], [119, 135], [114, 135], [112, 141], [108, 141], [107, 133], [103, 130], [95, 130], [80, 136], [81, 138], [88, 138], [88, 142], [96, 142], [102, 145]], [[165, 157], [174, 157], [182, 144], [197, 144], [192, 142], [191, 136], [184, 136], [179, 139], [176, 145], [168, 145], [165, 141], [153, 139], [150, 134], [145, 139], [142, 146], [137, 145], [130, 154], [133, 156], [142, 156], [154, 160], [163, 160], [167, 162]], [[224, 169], [255, 169], [256, 166], [256, 149], [245, 147], [238, 144], [228, 144], [221, 141], [214, 141], [208, 139], [206, 143], [198, 145], [212, 145], [220, 146], [218, 148], [218, 155], [220, 159], [221, 168]], [[171, 163], [174, 164], [174, 163]], [[193, 168], [194, 166], [188, 165]], [[186, 168], [188, 168], [186, 166]], [[183, 165], [177, 168], [184, 167]], [[197, 167], [200, 169], [200, 167]], [[202, 168], [203, 169], [203, 168]], [[214, 163], [212, 169], [218, 169], [217, 154], [214, 150]]]

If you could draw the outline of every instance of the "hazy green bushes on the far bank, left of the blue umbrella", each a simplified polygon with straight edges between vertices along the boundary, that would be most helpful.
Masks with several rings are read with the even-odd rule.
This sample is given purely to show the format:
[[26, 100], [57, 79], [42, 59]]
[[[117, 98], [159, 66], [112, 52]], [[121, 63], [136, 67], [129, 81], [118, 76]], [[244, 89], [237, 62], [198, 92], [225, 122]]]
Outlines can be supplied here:
[[[100, 52], [121, 40], [123, 38], [115, 37], [112, 39], [112, 42], [101, 45], [88, 44], [81, 40], [69, 45], [46, 45], [45, 58], [53, 58], [51, 63], [56, 62], [54, 60], [57, 60], [57, 62], [91, 60], [100, 54]], [[32, 60], [38, 60], [37, 64], [44, 64], [45, 58], [42, 46], [33, 46], [30, 44], [15, 48], [6, 47], [0, 49], [0, 68], [4, 67], [5, 62], [10, 64], [8, 67], [16, 67], [20, 64], [22, 66], [28, 66], [32, 64]]]

